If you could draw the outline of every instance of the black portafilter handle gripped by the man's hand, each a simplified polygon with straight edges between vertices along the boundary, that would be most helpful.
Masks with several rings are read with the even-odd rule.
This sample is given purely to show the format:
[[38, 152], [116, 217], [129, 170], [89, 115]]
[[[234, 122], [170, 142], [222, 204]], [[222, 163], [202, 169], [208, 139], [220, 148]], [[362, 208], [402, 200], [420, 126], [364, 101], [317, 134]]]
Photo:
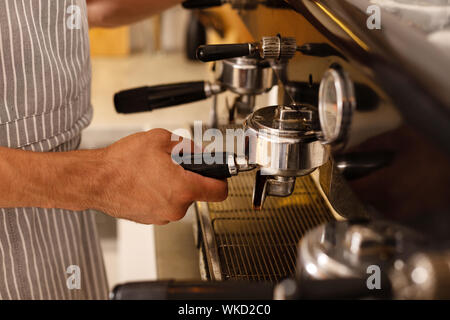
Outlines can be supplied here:
[[226, 152], [193, 153], [184, 154], [182, 156], [173, 155], [172, 158], [185, 170], [204, 177], [224, 180], [231, 177], [230, 168], [228, 166], [228, 157], [230, 155], [232, 154]]

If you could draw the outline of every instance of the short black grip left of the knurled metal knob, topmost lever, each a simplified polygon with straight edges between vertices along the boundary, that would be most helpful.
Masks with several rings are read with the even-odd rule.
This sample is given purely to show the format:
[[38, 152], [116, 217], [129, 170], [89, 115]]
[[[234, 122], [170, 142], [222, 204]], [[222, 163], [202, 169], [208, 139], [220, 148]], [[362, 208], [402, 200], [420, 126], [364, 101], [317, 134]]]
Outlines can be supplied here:
[[203, 62], [245, 57], [250, 54], [248, 43], [206, 45], [197, 49], [197, 59]]

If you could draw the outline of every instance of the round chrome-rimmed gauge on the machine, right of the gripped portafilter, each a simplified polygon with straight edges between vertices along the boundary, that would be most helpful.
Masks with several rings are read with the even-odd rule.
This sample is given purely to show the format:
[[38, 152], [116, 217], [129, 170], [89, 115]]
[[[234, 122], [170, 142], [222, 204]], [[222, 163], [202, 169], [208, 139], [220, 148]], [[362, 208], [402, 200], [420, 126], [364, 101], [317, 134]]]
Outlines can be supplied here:
[[345, 139], [355, 107], [354, 86], [347, 73], [338, 68], [329, 69], [319, 89], [319, 118], [323, 142], [340, 143]]

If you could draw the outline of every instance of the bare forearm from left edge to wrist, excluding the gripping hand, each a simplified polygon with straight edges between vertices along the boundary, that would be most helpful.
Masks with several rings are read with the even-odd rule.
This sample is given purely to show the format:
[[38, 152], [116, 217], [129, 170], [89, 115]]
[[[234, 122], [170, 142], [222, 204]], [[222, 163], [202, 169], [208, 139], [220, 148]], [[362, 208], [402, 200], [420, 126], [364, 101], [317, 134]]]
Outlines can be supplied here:
[[0, 147], [0, 207], [94, 208], [100, 152], [38, 153]]

